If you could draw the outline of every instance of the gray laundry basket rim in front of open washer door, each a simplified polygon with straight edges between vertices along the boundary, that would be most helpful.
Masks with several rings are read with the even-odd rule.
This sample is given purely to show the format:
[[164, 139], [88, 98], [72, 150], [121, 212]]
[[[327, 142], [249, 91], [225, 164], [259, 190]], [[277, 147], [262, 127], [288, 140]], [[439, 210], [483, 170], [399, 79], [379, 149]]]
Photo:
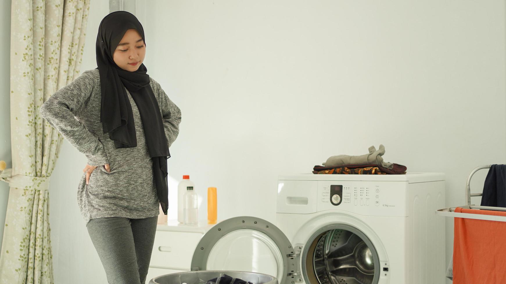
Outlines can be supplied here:
[[154, 277], [149, 284], [205, 284], [208, 280], [223, 276], [223, 274], [254, 284], [278, 284], [278, 279], [268, 274], [226, 270], [197, 270], [165, 274]]

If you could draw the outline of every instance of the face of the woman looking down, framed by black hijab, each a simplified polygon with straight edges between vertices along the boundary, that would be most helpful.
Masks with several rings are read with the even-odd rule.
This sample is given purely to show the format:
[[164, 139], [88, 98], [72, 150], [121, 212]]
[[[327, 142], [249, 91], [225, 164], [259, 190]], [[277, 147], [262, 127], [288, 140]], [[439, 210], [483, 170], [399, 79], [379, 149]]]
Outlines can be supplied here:
[[[119, 41], [116, 50], [112, 54], [114, 63], [126, 71], [134, 72], [144, 61], [146, 55], [146, 45], [137, 29], [129, 29]], [[130, 63], [137, 63], [132, 65]]]

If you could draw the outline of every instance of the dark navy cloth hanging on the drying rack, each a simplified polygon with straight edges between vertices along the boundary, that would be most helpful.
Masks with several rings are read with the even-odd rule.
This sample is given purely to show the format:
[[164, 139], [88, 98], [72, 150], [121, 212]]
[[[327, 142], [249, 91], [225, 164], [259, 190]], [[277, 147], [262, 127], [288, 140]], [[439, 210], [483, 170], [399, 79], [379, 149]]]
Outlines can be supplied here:
[[506, 165], [490, 165], [483, 185], [481, 206], [506, 207]]

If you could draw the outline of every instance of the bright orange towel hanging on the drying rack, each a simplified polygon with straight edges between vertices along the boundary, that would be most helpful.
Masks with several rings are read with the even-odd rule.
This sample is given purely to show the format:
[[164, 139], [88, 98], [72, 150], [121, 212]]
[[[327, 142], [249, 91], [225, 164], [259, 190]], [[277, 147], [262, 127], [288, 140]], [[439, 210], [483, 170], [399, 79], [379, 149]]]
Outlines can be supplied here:
[[[455, 208], [455, 212], [506, 216], [506, 212]], [[454, 219], [453, 284], [506, 283], [506, 222]]]

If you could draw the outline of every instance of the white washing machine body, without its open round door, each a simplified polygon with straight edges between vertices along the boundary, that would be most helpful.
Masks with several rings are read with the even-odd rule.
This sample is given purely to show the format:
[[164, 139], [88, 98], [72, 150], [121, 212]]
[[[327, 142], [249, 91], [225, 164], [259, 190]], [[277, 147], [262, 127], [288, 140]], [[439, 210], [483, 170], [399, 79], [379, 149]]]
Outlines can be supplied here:
[[276, 225], [299, 258], [295, 282], [445, 283], [442, 173], [285, 175]]

